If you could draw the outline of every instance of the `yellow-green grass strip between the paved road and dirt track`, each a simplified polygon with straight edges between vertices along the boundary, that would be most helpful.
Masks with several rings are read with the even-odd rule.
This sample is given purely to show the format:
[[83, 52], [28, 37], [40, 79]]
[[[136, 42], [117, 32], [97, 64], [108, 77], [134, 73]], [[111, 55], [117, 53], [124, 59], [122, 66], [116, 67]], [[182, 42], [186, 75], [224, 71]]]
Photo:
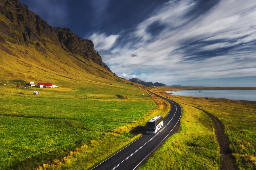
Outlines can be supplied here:
[[181, 106], [181, 130], [138, 169], [219, 169], [218, 143], [210, 119], [200, 110]]

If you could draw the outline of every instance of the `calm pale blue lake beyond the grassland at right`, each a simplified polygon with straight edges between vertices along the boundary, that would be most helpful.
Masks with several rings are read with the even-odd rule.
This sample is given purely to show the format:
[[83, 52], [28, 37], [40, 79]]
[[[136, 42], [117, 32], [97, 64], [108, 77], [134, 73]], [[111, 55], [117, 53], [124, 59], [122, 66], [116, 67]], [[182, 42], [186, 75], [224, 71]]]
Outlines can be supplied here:
[[180, 90], [167, 91], [180, 96], [216, 97], [233, 100], [256, 101], [256, 90]]

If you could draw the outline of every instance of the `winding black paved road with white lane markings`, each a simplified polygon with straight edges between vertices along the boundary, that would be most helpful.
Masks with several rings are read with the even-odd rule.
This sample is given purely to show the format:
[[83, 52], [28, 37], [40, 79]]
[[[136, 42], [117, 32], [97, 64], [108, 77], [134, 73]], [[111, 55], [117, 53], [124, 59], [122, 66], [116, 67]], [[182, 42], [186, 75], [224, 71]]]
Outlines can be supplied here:
[[171, 105], [171, 110], [164, 118], [164, 126], [156, 134], [142, 135], [136, 141], [130, 143], [110, 158], [92, 168], [93, 170], [136, 169], [164, 140], [166, 140], [166, 138], [170, 136], [171, 131], [175, 128], [181, 117], [181, 106], [176, 102], [161, 97], [155, 93], [152, 94], [165, 99]]

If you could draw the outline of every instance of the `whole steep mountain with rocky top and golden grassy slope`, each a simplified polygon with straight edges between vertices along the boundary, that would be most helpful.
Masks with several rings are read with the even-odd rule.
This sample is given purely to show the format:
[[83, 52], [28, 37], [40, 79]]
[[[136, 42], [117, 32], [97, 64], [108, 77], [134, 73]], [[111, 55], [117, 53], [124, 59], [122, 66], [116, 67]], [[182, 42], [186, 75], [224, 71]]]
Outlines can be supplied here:
[[91, 40], [48, 25], [19, 0], [0, 0], [0, 72], [0, 83], [128, 83], [112, 73]]

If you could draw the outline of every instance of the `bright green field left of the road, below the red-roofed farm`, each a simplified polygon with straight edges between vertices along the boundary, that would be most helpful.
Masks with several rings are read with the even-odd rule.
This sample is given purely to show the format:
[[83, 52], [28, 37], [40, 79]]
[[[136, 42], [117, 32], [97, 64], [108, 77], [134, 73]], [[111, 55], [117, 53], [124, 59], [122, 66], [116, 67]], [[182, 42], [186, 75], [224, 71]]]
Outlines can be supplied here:
[[[33, 95], [34, 90], [39, 95]], [[57, 164], [70, 151], [108, 136], [127, 143], [138, 134], [120, 130], [117, 135], [113, 130], [140, 121], [144, 124], [143, 116], [157, 107], [144, 90], [134, 86], [94, 84], [72, 89], [1, 85], [0, 94], [0, 169]]]

